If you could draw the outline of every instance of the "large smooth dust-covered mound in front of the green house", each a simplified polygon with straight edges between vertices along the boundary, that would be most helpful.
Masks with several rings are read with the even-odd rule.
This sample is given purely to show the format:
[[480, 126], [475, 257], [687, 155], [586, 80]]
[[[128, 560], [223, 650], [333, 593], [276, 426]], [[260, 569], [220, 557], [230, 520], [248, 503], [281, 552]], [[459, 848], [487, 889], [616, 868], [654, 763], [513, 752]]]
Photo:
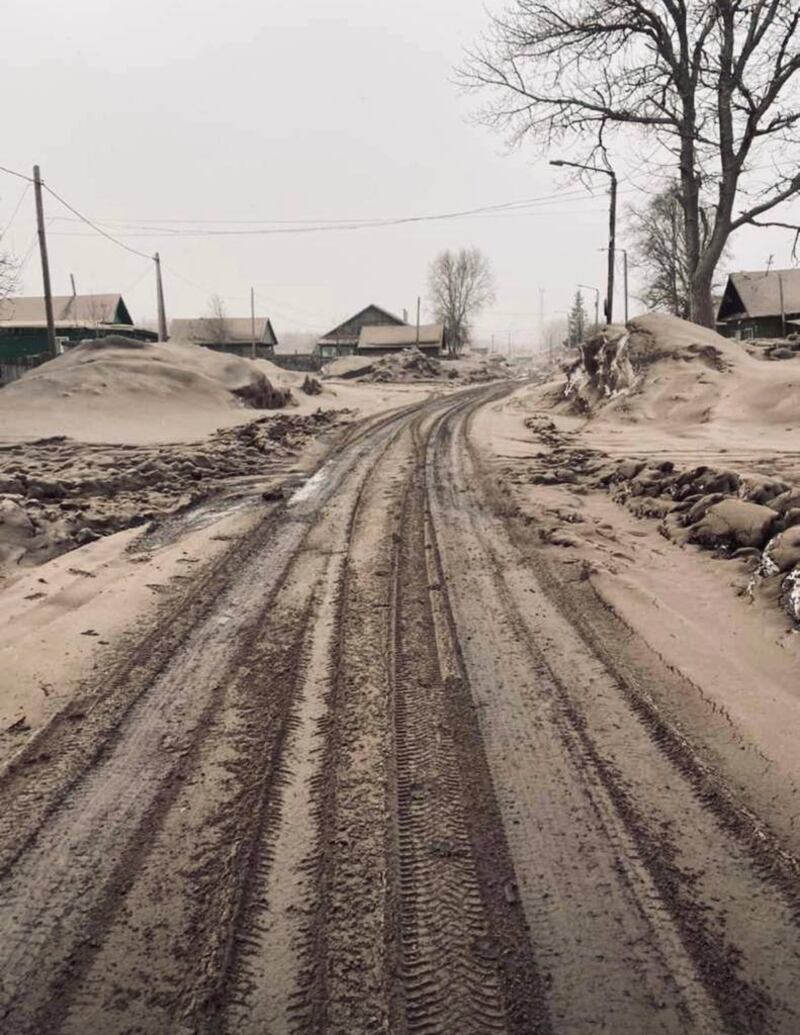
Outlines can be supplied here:
[[3, 388], [0, 439], [186, 440], [291, 397], [250, 360], [114, 335], [82, 342]]

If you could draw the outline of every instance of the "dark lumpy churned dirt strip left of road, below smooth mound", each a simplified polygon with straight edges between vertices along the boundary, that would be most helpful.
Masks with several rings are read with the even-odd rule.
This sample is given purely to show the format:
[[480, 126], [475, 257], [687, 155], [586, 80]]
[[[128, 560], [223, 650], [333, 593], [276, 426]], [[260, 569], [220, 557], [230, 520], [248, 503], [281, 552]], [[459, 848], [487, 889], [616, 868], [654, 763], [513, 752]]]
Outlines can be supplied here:
[[282, 413], [190, 444], [89, 446], [65, 439], [0, 449], [0, 570], [39, 564], [270, 476], [340, 414]]

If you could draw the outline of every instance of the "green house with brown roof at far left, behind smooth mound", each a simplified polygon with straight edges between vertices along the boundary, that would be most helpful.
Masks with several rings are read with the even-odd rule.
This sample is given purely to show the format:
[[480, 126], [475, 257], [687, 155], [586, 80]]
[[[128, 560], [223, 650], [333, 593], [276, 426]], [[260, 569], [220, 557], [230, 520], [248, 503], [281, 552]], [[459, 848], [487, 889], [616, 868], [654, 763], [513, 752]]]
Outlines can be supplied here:
[[[61, 350], [85, 337], [124, 334], [155, 342], [155, 331], [137, 327], [122, 295], [57, 295], [53, 299], [56, 343]], [[0, 302], [0, 362], [34, 366], [50, 358], [45, 299], [6, 298]]]

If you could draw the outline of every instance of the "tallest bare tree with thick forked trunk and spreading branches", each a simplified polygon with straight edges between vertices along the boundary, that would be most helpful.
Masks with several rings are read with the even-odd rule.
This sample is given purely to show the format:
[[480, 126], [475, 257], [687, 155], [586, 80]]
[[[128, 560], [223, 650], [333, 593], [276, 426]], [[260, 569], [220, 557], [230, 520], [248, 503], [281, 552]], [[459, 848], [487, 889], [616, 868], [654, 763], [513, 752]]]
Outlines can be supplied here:
[[[603, 135], [636, 129], [663, 148], [680, 182], [690, 315], [713, 326], [731, 234], [800, 194], [799, 43], [797, 0], [510, 0], [463, 75], [515, 139], [588, 144], [591, 157]], [[765, 180], [748, 175], [765, 166]]]

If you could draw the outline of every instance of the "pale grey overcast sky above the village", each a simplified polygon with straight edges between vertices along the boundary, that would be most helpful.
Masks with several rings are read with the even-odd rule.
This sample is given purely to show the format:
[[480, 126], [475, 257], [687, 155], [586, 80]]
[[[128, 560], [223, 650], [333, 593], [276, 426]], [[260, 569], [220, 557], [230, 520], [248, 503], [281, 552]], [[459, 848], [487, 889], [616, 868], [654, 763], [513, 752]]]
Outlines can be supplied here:
[[[208, 234], [574, 190], [535, 146], [509, 152], [470, 120], [476, 100], [453, 84], [453, 66], [485, 18], [483, 0], [6, 0], [0, 165], [29, 172], [37, 161], [81, 212], [130, 247], [159, 250], [168, 317], [204, 315], [213, 293], [231, 316], [247, 315], [251, 285], [278, 335], [325, 331], [368, 302], [412, 314], [418, 294], [424, 315], [431, 259], [474, 244], [498, 282], [481, 334], [530, 342], [540, 291], [552, 319], [576, 284], [602, 284], [602, 184], [594, 197], [516, 213]], [[24, 186], [0, 176], [0, 226]], [[622, 189], [629, 201], [630, 185]], [[121, 291], [136, 320], [152, 319], [152, 263], [70, 221], [53, 198], [46, 206], [54, 292], [69, 291], [71, 272], [79, 291]], [[41, 290], [33, 234], [29, 191], [4, 239], [26, 260], [28, 294]], [[732, 266], [758, 268], [771, 255], [791, 264], [786, 234], [749, 231], [737, 241]]]

